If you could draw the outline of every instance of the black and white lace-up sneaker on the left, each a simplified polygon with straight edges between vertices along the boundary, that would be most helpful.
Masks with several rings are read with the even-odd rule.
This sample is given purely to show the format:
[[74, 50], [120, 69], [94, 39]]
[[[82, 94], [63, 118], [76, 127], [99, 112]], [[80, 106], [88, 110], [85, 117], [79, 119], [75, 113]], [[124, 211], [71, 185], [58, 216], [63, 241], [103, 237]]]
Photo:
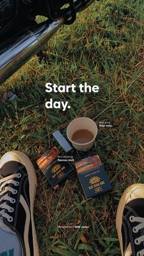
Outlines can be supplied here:
[[0, 161], [0, 227], [15, 233], [23, 256], [39, 256], [34, 225], [37, 178], [24, 153], [5, 153]]

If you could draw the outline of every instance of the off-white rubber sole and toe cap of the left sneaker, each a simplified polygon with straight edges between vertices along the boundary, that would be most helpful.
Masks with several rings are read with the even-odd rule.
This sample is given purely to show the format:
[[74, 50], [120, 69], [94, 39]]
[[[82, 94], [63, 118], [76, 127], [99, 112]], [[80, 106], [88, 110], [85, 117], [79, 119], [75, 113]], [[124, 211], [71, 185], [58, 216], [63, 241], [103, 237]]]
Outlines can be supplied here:
[[[34, 200], [35, 200], [35, 192], [37, 189], [37, 177], [35, 174], [34, 166], [32, 165], [30, 159], [20, 151], [10, 151], [2, 156], [0, 161], [1, 165], [6, 163], [7, 161], [18, 161], [26, 167], [28, 178], [29, 178], [29, 196], [30, 196], [30, 205], [31, 205], [31, 221], [32, 221], [32, 238], [34, 244], [34, 256], [39, 256], [39, 249], [37, 243], [37, 235], [35, 232], [35, 224], [34, 224]], [[31, 255], [32, 256], [32, 255]]]

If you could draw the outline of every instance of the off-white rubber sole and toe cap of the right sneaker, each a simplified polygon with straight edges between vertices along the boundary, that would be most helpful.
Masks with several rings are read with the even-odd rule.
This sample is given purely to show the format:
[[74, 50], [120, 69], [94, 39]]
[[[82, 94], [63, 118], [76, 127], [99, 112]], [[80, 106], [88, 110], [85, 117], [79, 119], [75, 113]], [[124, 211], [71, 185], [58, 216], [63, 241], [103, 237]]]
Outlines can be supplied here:
[[136, 198], [144, 198], [144, 184], [134, 184], [129, 186], [121, 196], [120, 202], [118, 204], [117, 209], [117, 216], [116, 216], [116, 228], [118, 233], [118, 239], [120, 240], [120, 248], [121, 248], [121, 255], [123, 254], [123, 238], [121, 234], [121, 226], [122, 226], [122, 219], [123, 219], [123, 211], [125, 205], [133, 199]]

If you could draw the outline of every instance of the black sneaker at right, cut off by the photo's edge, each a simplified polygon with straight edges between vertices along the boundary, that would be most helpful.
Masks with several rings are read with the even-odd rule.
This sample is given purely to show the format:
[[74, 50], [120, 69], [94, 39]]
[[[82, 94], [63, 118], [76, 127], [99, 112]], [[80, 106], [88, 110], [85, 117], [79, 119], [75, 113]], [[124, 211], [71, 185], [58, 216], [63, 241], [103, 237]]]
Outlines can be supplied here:
[[144, 255], [144, 185], [124, 191], [118, 204], [116, 227], [122, 256]]

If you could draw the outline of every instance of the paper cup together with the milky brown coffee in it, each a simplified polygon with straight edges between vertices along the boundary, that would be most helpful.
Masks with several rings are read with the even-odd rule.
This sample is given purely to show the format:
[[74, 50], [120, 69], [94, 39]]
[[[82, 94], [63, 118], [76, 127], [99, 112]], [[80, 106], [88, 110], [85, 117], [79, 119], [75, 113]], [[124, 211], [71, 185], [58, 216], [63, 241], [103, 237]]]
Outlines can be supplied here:
[[67, 137], [76, 150], [87, 151], [92, 148], [98, 128], [88, 117], [79, 117], [71, 121], [67, 127]]

